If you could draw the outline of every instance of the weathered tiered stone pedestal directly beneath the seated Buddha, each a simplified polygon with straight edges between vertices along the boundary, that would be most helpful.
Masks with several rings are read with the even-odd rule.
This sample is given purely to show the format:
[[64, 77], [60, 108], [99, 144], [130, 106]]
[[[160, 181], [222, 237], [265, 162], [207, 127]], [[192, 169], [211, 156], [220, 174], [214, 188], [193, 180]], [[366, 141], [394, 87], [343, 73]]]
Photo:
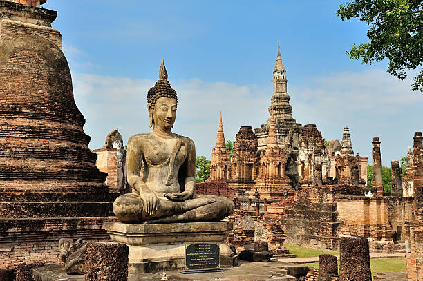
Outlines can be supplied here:
[[237, 256], [225, 243], [227, 234], [232, 229], [232, 222], [107, 222], [104, 228], [113, 241], [129, 246], [129, 274], [183, 269], [187, 243], [220, 243], [220, 267], [236, 265]]

